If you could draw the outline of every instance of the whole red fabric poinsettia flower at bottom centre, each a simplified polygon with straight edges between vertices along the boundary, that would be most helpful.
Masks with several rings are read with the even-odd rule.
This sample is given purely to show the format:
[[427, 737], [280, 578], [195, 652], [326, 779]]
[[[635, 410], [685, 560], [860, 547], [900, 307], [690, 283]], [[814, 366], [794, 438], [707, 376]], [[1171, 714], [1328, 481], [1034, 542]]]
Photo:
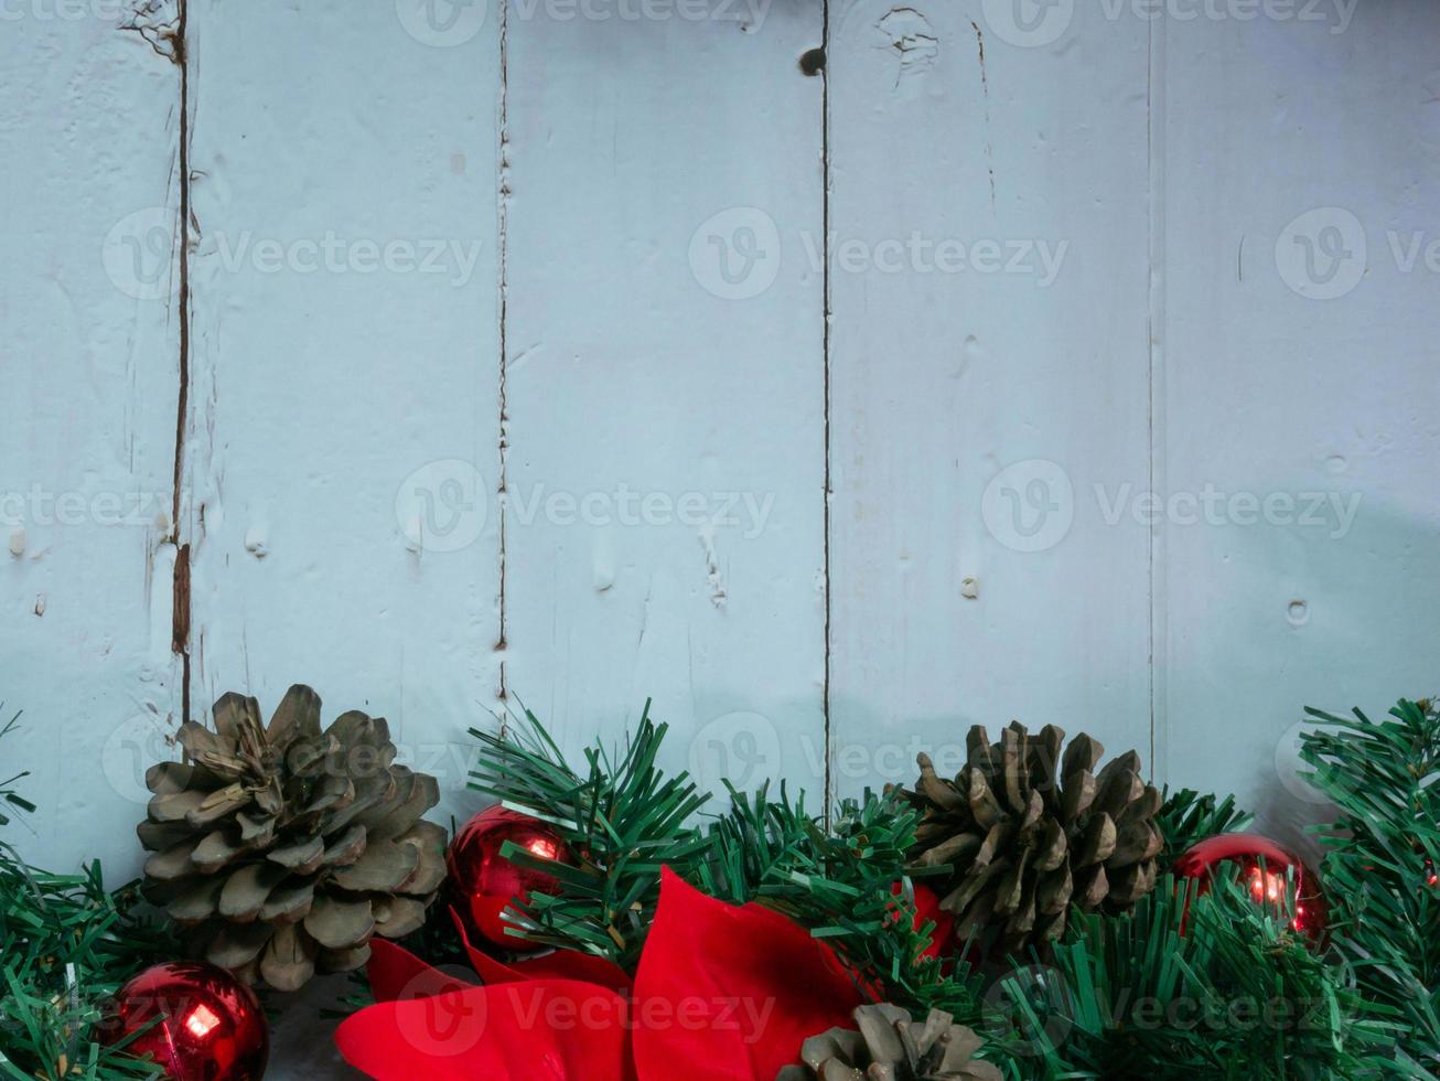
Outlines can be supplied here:
[[668, 869], [634, 982], [566, 950], [501, 964], [467, 948], [482, 986], [374, 941], [377, 1005], [336, 1032], [346, 1061], [379, 1081], [773, 1081], [861, 1003], [802, 927]]

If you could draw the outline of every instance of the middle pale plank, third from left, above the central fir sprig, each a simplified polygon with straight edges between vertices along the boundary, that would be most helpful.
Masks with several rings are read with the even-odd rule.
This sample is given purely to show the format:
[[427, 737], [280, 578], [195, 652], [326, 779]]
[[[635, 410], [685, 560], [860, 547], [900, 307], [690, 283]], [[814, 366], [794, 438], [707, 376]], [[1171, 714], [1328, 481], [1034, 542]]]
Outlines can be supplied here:
[[667, 765], [818, 794], [822, 82], [798, 59], [821, 9], [524, 10], [507, 26], [507, 688], [567, 748], [619, 742], [652, 696]]

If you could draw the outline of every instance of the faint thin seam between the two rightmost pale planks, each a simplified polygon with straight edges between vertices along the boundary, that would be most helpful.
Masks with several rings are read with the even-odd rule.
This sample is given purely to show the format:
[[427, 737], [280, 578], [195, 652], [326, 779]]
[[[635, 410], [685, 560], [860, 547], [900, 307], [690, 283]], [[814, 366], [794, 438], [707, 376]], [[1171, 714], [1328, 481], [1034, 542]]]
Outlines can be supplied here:
[[[1149, 69], [1146, 94], [1149, 169], [1149, 490], [1165, 486], [1165, 20], [1149, 26]], [[1165, 778], [1159, 752], [1165, 734], [1165, 520], [1151, 526], [1149, 545], [1149, 692], [1151, 775]]]

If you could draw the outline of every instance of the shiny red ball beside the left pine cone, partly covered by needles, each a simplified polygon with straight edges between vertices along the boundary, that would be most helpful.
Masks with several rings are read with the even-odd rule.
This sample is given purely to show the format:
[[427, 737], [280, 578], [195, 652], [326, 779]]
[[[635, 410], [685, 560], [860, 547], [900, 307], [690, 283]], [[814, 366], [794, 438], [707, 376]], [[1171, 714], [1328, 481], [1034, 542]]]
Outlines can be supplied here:
[[482, 810], [451, 842], [451, 889], [459, 901], [462, 915], [468, 917], [465, 922], [469, 931], [491, 946], [523, 950], [524, 940], [507, 934], [507, 928], [514, 924], [503, 918], [503, 912], [513, 902], [528, 902], [531, 891], [554, 894], [559, 882], [554, 875], [517, 866], [500, 855], [505, 842], [540, 859], [557, 863], [573, 860], [560, 835], [550, 826], [501, 806]]

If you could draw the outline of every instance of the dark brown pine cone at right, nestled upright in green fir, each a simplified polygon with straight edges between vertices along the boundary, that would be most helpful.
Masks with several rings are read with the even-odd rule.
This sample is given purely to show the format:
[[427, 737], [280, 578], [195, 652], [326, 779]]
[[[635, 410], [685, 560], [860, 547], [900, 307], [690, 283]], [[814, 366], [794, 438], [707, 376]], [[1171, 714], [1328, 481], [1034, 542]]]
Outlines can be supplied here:
[[940, 908], [958, 917], [962, 940], [1001, 928], [1005, 948], [1018, 950], [1058, 938], [1071, 904], [1117, 912], [1155, 888], [1161, 794], [1140, 780], [1139, 755], [1096, 774], [1104, 748], [1080, 735], [1061, 758], [1064, 738], [1054, 725], [1031, 737], [1011, 724], [992, 745], [976, 725], [953, 781], [919, 757], [914, 855], [953, 868]]

